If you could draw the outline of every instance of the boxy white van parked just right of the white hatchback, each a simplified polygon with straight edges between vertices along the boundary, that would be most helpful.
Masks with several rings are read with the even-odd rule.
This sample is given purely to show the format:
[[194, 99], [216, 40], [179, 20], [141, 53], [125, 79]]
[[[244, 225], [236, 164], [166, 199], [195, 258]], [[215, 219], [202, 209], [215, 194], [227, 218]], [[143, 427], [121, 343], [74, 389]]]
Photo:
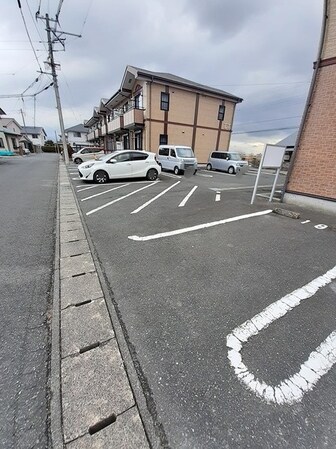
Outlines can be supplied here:
[[183, 174], [187, 168], [197, 172], [197, 159], [191, 147], [184, 145], [160, 145], [156, 160], [163, 170], [171, 170], [175, 175]]

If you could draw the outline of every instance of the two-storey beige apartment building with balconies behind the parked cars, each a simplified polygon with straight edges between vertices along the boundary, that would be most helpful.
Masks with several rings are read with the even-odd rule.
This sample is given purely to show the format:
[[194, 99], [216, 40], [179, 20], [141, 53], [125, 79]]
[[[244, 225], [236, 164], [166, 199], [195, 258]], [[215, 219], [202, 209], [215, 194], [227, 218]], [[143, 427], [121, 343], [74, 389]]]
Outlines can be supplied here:
[[127, 66], [120, 89], [85, 122], [88, 141], [106, 150], [156, 152], [161, 144], [191, 146], [199, 162], [229, 148], [235, 107], [228, 92], [168, 73]]

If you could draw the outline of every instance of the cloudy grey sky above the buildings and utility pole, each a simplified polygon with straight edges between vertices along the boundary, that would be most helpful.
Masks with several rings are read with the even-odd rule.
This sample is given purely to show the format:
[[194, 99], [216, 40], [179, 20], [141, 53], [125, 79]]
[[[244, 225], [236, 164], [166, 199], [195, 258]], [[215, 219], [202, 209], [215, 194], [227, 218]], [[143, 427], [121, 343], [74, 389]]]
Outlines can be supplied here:
[[[52, 88], [42, 75], [46, 31], [59, 0], [1, 0], [0, 107], [20, 124], [59, 133]], [[62, 2], [61, 2], [62, 3]], [[21, 15], [22, 12], [22, 15]], [[323, 0], [64, 0], [65, 52], [55, 54], [65, 127], [92, 115], [120, 86], [127, 64], [169, 72], [242, 97], [231, 149], [258, 152], [299, 126], [316, 59]], [[29, 43], [24, 21], [35, 49]], [[65, 37], [65, 36], [64, 36]], [[61, 49], [58, 45], [55, 48]], [[22, 110], [22, 113], [20, 112]], [[286, 129], [284, 129], [286, 128]], [[256, 132], [259, 131], [259, 132]]]

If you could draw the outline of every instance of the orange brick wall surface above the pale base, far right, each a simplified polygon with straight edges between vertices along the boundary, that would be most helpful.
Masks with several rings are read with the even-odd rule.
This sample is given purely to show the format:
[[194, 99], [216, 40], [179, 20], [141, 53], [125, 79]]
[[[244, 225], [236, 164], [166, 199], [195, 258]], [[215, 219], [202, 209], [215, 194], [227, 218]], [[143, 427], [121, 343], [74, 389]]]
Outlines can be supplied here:
[[[334, 58], [336, 1], [329, 3], [322, 55]], [[318, 69], [310, 109], [286, 190], [336, 200], [336, 64]]]

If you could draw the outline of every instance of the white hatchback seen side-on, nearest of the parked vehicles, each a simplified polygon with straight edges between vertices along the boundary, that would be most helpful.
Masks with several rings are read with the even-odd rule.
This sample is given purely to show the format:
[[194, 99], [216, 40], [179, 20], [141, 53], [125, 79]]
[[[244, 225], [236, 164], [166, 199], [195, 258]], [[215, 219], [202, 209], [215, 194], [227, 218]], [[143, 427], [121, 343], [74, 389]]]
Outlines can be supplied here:
[[107, 154], [97, 161], [83, 162], [78, 166], [79, 177], [98, 183], [110, 179], [147, 178], [155, 181], [161, 173], [155, 154], [147, 151], [122, 150]]

